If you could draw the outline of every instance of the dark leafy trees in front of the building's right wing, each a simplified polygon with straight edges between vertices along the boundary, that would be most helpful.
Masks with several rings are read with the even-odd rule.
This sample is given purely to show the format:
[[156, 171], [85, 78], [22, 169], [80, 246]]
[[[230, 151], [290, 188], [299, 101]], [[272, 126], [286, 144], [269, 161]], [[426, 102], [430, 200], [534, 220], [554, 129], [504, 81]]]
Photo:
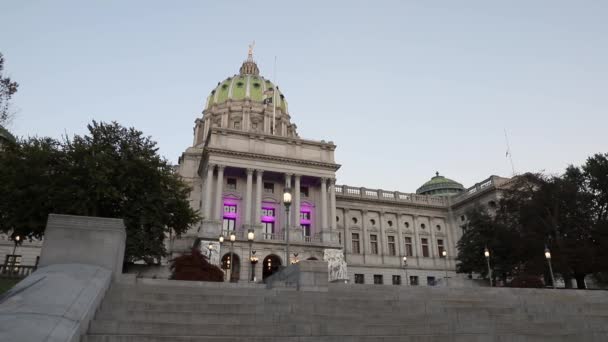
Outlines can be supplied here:
[[607, 157], [595, 155], [561, 176], [518, 176], [495, 212], [470, 211], [458, 271], [484, 275], [485, 244], [503, 278], [546, 274], [542, 251], [548, 246], [555, 273], [585, 288], [587, 275], [608, 270]]

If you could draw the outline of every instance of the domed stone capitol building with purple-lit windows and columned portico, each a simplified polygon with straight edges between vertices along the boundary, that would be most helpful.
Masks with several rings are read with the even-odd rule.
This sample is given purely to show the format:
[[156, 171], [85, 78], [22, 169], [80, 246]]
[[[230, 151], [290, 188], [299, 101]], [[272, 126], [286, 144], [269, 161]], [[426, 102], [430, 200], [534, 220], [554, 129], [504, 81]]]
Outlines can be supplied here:
[[250, 50], [239, 73], [211, 90], [192, 146], [179, 158], [191, 206], [203, 219], [171, 242], [171, 253], [200, 246], [240, 282], [339, 250], [351, 283], [473, 283], [455, 273], [465, 212], [496, 206], [508, 178], [465, 188], [436, 173], [416, 193], [339, 184], [336, 171], [348, 165], [335, 162], [336, 144], [300, 134], [285, 95], [260, 75]]

